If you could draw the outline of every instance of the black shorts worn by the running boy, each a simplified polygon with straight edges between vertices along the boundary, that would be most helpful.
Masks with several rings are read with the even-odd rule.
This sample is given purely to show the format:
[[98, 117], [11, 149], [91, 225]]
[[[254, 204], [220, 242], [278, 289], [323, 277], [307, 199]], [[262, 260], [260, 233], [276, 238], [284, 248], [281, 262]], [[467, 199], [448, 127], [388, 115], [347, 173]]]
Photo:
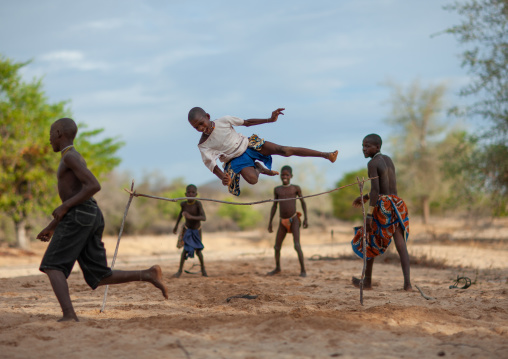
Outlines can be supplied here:
[[104, 218], [93, 198], [71, 208], [58, 223], [39, 270], [55, 269], [68, 278], [76, 260], [86, 283], [95, 289], [111, 274], [102, 243]]

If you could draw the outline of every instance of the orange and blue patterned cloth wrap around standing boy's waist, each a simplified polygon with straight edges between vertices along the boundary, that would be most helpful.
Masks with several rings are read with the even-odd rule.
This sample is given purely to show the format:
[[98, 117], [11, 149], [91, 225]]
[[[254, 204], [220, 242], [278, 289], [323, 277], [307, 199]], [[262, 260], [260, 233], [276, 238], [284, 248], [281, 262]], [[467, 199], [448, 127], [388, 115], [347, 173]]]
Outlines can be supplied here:
[[[399, 226], [407, 242], [409, 237], [409, 214], [404, 201], [395, 195], [380, 195], [372, 213], [373, 234], [367, 236], [367, 259], [383, 254]], [[355, 227], [355, 237], [351, 241], [355, 254], [363, 258], [363, 227]]]

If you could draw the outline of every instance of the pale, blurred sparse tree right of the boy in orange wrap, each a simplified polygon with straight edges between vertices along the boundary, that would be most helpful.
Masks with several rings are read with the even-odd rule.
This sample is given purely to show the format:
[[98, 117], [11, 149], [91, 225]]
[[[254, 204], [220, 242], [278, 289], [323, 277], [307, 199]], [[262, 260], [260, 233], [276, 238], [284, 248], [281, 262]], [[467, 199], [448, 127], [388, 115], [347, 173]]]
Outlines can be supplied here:
[[397, 168], [398, 190], [415, 204], [428, 223], [431, 202], [448, 192], [442, 171], [443, 135], [446, 127], [444, 85], [421, 88], [418, 81], [407, 90], [392, 87], [392, 113], [387, 122], [393, 126], [390, 142]]

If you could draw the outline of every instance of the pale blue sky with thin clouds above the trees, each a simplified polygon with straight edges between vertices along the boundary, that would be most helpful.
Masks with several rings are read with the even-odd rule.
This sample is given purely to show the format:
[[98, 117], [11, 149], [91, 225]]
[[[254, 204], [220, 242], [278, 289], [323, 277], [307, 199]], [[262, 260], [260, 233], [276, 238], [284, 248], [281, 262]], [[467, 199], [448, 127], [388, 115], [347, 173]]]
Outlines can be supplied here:
[[0, 54], [31, 59], [25, 80], [42, 77], [50, 102], [69, 100], [76, 122], [124, 141], [119, 170], [134, 179], [216, 179], [187, 121], [194, 106], [212, 119], [268, 118], [284, 107], [276, 123], [236, 129], [338, 149], [334, 164], [274, 157], [274, 169], [290, 164], [333, 188], [366, 166], [365, 135], [389, 137], [387, 82], [445, 83], [447, 104], [460, 101], [463, 49], [451, 35], [432, 36], [459, 22], [448, 3], [2, 0]]

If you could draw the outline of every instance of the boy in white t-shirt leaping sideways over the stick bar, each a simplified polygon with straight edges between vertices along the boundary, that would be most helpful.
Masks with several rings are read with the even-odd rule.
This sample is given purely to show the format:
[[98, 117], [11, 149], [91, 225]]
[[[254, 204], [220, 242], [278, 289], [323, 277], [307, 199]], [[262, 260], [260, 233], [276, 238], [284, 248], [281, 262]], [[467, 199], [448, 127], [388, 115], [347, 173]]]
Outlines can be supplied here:
[[[210, 115], [200, 107], [194, 107], [189, 111], [190, 124], [198, 132], [203, 133], [198, 148], [205, 166], [222, 181], [224, 186], [229, 186], [229, 192], [233, 195], [240, 195], [240, 175], [250, 184], [258, 182], [260, 173], [268, 176], [278, 175], [276, 171], [271, 170], [272, 155], [322, 157], [332, 163], [337, 159], [338, 151], [319, 152], [302, 147], [280, 146], [257, 135], [246, 137], [233, 128], [275, 122], [279, 115], [283, 115], [283, 110], [279, 108], [273, 111], [268, 119], [242, 120], [238, 117], [224, 116], [215, 121], [210, 121]], [[217, 159], [225, 164], [224, 172], [217, 166]]]

